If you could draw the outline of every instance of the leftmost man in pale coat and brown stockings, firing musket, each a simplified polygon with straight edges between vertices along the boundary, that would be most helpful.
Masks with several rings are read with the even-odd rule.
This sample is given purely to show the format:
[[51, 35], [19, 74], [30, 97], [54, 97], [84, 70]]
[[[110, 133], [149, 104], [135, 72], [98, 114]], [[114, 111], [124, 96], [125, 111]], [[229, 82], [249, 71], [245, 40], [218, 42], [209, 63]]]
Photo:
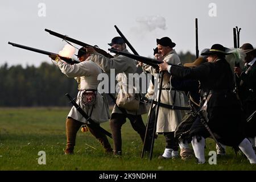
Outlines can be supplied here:
[[81, 107], [79, 109], [86, 113], [86, 117], [84, 117], [75, 106], [69, 112], [66, 119], [67, 146], [64, 151], [65, 154], [73, 154], [76, 134], [82, 125], [88, 126], [90, 133], [98, 139], [105, 152], [112, 152], [112, 147], [105, 135], [106, 131], [100, 127], [100, 123], [106, 122], [110, 118], [108, 101], [97, 90], [99, 83], [97, 78], [101, 69], [91, 61], [90, 53], [86, 52], [84, 48], [80, 48], [77, 54], [77, 58], [80, 60], [79, 64], [65, 64], [58, 55], [50, 55], [49, 57], [56, 61], [61, 72], [68, 77], [74, 77], [78, 82], [79, 93], [76, 104]]

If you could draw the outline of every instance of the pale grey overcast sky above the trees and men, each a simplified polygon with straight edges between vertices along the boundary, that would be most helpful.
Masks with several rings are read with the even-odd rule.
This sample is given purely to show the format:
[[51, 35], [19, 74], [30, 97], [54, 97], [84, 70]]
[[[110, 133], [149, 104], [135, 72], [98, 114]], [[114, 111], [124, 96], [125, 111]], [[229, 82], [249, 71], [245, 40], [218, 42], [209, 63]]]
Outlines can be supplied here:
[[255, 0], [1, 1], [0, 65], [38, 66], [50, 61], [46, 55], [7, 44], [10, 41], [58, 53], [65, 43], [44, 28], [107, 51], [107, 43], [118, 36], [117, 25], [140, 55], [152, 56], [156, 38], [164, 36], [177, 44], [177, 52], [195, 53], [198, 18], [200, 51], [214, 43], [233, 47], [235, 26], [242, 28], [240, 44], [248, 42], [255, 47], [255, 7]]

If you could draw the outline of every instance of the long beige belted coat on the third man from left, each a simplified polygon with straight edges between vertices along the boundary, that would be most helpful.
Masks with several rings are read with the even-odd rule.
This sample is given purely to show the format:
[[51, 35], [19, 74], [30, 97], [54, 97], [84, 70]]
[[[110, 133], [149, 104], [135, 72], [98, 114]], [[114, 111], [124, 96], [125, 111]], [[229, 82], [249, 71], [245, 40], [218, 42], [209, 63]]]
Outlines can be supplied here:
[[[165, 57], [164, 60], [167, 61], [169, 64], [180, 64], [180, 59], [175, 50], [169, 52]], [[154, 68], [148, 65], [144, 65], [143, 68], [150, 72], [152, 75], [156, 74]], [[160, 81], [160, 79], [159, 79]], [[168, 105], [175, 105], [175, 106], [185, 106], [184, 103], [184, 94], [183, 92], [170, 90], [170, 77], [164, 76], [163, 81], [163, 90], [161, 94], [160, 101], [163, 104]], [[166, 89], [166, 90], [164, 90]], [[159, 92], [159, 90], [157, 91]], [[176, 94], [176, 96], [175, 96]], [[157, 98], [158, 94], [156, 94]], [[175, 101], [174, 101], [175, 97]], [[156, 99], [155, 99], [156, 100]], [[172, 132], [175, 131], [177, 125], [181, 122], [184, 115], [184, 111], [180, 110], [172, 110], [167, 109], [164, 107], [159, 107], [159, 114], [158, 114], [158, 121], [156, 125], [156, 133], [165, 133], [165, 132]]]

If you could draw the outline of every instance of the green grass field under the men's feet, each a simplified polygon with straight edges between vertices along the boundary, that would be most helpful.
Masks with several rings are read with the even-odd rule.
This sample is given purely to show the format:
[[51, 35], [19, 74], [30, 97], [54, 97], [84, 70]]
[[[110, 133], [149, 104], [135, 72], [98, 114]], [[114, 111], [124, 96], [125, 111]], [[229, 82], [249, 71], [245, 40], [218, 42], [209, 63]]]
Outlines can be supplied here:
[[[159, 160], [164, 151], [164, 137], [155, 140], [154, 156], [141, 159], [139, 135], [126, 122], [122, 128], [123, 155], [107, 155], [90, 133], [77, 134], [75, 155], [64, 155], [65, 117], [68, 108], [0, 109], [0, 170], [255, 170], [256, 166], [231, 147], [228, 155], [217, 159], [217, 165], [195, 164], [195, 159]], [[143, 116], [146, 121], [146, 115]], [[110, 131], [109, 123], [102, 125]], [[112, 139], [110, 139], [112, 143]], [[92, 146], [92, 147], [90, 147]], [[94, 149], [95, 148], [95, 149]], [[214, 150], [215, 143], [207, 140], [205, 155]], [[38, 164], [38, 152], [46, 152], [46, 165]]]

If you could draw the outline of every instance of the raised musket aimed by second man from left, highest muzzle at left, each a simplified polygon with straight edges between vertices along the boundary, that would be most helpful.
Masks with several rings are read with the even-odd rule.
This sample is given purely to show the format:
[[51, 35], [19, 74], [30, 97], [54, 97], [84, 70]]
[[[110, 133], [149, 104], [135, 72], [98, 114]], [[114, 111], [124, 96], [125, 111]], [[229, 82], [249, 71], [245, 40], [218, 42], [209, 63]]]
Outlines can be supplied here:
[[62, 35], [62, 34], [59, 34], [59, 33], [57, 33], [57, 32], [53, 32], [53, 31], [48, 30], [48, 29], [44, 29], [44, 30], [47, 31], [49, 34], [51, 34], [51, 35], [53, 35], [53, 36], [56, 36], [56, 37], [58, 37], [58, 38], [61, 38], [61, 39], [63, 39], [63, 40], [66, 40], [66, 41], [68, 41], [68, 42], [72, 42], [72, 43], [77, 44], [77, 45], [79, 45], [79, 46], [82, 46], [82, 47], [93, 47], [96, 52], [98, 52], [98, 53], [100, 53], [100, 54], [102, 54], [102, 55], [104, 55], [104, 56], [106, 56], [106, 57], [113, 58], [113, 56], [110, 55], [108, 52], [106, 52], [106, 51], [104, 51], [104, 50], [102, 50], [102, 49], [100, 49], [100, 48], [98, 48], [98, 47], [96, 47], [96, 46], [91, 46], [91, 45], [86, 44], [86, 43], [84, 43], [84, 42], [81, 42], [81, 41], [79, 41], [79, 40], [76, 40], [76, 39], [73, 39], [73, 38], [69, 38], [67, 35]]

